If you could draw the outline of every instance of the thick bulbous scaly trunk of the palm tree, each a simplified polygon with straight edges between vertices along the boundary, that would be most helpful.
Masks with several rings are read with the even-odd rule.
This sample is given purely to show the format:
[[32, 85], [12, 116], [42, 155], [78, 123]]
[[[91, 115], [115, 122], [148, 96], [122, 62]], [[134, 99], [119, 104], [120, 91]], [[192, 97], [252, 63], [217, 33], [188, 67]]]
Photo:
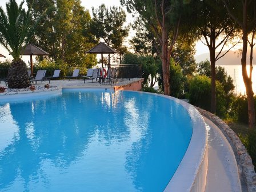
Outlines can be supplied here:
[[13, 61], [8, 71], [8, 88], [23, 89], [30, 86], [27, 65], [22, 60]]

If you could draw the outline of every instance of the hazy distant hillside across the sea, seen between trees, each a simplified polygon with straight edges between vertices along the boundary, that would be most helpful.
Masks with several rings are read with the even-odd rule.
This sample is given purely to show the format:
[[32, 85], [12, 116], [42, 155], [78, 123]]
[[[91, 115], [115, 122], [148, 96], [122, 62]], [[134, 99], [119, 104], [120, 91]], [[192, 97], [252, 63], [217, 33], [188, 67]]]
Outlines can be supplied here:
[[[249, 51], [248, 51], [249, 52]], [[215, 53], [217, 54], [217, 52]], [[219, 59], [216, 62], [216, 65], [241, 65], [241, 57], [242, 55], [238, 53], [238, 51], [229, 51], [224, 57]], [[249, 53], [247, 53], [247, 61], [249, 61]], [[205, 61], [208, 59], [210, 61], [209, 53], [204, 53], [201, 55], [195, 56], [195, 62], [199, 63], [201, 61]], [[256, 49], [253, 51], [253, 63], [256, 63]]]

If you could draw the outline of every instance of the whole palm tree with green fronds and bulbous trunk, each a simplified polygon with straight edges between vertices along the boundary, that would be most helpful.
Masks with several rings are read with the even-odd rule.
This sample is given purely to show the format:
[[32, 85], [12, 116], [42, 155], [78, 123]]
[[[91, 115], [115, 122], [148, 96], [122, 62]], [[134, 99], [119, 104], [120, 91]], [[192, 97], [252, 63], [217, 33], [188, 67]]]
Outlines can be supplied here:
[[0, 7], [0, 43], [13, 56], [8, 71], [9, 88], [26, 88], [30, 86], [29, 75], [27, 74], [26, 63], [21, 59], [21, 49], [26, 46], [38, 25], [42, 16], [32, 25], [31, 5], [27, 11], [22, 8], [24, 1], [20, 5], [15, 0], [6, 3], [6, 13]]

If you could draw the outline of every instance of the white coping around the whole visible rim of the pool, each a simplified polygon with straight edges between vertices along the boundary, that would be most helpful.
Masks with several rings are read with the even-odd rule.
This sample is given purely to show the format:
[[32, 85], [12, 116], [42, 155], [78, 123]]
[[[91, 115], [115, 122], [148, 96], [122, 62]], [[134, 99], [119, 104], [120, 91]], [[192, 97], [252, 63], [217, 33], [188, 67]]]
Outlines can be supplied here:
[[[70, 90], [70, 89], [63, 89]], [[72, 90], [81, 90], [72, 89]], [[82, 90], [85, 90], [83, 88]], [[105, 90], [113, 91], [111, 89], [86, 89], [86, 90]], [[137, 92], [137, 91], [133, 91]], [[33, 94], [31, 94], [33, 93]], [[5, 94], [0, 95], [0, 102], [9, 102], [9, 101], [23, 101], [24, 99], [32, 99], [33, 97], [41, 97], [45, 95], [55, 96], [61, 95], [62, 89], [54, 89], [50, 91], [26, 91], [15, 94]], [[179, 164], [173, 178], [166, 186], [165, 192], [169, 191], [204, 191], [206, 185], [206, 175], [207, 175], [207, 130], [205, 121], [202, 118], [202, 115], [195, 109], [194, 106], [189, 103], [182, 101], [180, 99], [169, 97], [167, 95], [160, 95], [154, 93], [145, 93], [143, 94], [153, 94], [159, 97], [165, 97], [171, 99], [187, 110], [191, 117], [191, 123], [193, 127], [193, 133], [187, 151]]]

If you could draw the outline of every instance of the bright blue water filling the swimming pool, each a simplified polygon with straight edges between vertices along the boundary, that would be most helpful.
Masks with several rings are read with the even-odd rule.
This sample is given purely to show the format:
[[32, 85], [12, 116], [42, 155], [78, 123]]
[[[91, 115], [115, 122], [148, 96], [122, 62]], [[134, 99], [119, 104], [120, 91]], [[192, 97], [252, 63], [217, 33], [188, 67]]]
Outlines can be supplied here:
[[163, 191], [191, 134], [187, 111], [153, 94], [0, 103], [0, 191]]

